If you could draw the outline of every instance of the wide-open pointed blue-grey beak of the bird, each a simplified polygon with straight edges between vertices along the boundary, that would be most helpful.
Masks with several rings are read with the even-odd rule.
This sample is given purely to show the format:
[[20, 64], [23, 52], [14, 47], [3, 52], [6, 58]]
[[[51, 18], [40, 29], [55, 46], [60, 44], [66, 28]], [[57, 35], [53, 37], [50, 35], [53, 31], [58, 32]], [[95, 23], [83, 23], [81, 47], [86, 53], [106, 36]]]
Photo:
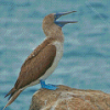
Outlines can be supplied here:
[[66, 15], [69, 13], [73, 13], [76, 11], [69, 11], [69, 12], [62, 12], [62, 13], [56, 13], [55, 14], [55, 24], [59, 25], [61, 28], [63, 28], [65, 24], [67, 23], [77, 23], [77, 21], [56, 21], [58, 18], [61, 18], [62, 15]]

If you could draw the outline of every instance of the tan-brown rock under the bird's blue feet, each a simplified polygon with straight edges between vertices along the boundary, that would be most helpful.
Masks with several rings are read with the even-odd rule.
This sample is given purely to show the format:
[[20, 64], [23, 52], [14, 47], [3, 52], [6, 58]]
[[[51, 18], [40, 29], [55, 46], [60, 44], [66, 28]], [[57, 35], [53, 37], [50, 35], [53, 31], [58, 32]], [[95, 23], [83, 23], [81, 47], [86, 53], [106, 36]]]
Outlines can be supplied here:
[[110, 95], [59, 86], [57, 90], [40, 89], [30, 110], [110, 110]]

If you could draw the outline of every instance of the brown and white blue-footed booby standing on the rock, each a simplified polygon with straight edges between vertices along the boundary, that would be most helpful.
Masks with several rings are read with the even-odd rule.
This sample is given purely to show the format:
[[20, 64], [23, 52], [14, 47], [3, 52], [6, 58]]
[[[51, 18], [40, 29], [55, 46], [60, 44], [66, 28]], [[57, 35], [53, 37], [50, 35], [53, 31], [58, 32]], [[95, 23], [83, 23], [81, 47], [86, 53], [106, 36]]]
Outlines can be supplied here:
[[46, 38], [21, 66], [14, 87], [6, 95], [6, 97], [10, 97], [3, 110], [28, 87], [41, 84], [41, 87], [45, 89], [58, 89], [56, 85], [46, 85], [45, 79], [55, 70], [63, 56], [64, 34], [62, 28], [68, 23], [77, 23], [77, 21], [57, 21], [57, 19], [73, 12], [76, 11], [51, 13], [43, 19], [42, 29]]

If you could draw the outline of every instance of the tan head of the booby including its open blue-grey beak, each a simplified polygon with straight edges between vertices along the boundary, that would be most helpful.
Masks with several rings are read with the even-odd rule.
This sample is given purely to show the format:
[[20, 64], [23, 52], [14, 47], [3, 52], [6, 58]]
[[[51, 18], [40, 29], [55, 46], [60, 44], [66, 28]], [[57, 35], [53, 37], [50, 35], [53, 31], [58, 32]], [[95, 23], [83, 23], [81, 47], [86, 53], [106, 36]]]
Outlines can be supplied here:
[[73, 12], [76, 11], [51, 13], [46, 15], [43, 20], [43, 25], [42, 25], [46, 36], [58, 34], [59, 33], [58, 31], [61, 30], [62, 32], [62, 28], [67, 23], [77, 23], [77, 21], [57, 21], [57, 19], [61, 18], [62, 15], [66, 15]]

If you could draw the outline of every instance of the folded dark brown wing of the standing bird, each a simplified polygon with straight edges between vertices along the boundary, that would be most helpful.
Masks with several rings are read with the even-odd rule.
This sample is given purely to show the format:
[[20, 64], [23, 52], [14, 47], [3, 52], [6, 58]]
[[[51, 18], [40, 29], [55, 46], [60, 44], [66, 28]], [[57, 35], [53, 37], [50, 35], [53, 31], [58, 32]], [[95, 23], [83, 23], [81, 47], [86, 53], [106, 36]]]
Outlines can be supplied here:
[[50, 41], [40, 45], [28, 57], [21, 67], [15, 89], [23, 88], [38, 79], [52, 66], [56, 55], [56, 47]]

